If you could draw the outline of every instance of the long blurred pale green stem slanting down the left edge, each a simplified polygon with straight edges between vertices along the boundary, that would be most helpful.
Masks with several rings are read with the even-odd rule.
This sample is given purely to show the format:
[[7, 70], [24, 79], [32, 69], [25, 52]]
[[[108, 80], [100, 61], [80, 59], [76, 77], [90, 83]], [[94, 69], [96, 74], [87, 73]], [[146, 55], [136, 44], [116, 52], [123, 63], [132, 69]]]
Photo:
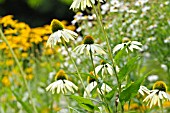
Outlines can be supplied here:
[[21, 75], [22, 75], [24, 84], [25, 84], [25, 86], [26, 86], [26, 88], [27, 88], [27, 91], [28, 91], [28, 93], [29, 93], [29, 98], [30, 98], [30, 101], [31, 101], [31, 105], [32, 105], [32, 107], [33, 107], [33, 110], [34, 110], [35, 113], [38, 113], [38, 112], [37, 112], [37, 109], [36, 109], [36, 107], [35, 107], [35, 104], [34, 104], [34, 102], [33, 102], [31, 90], [30, 90], [30, 88], [29, 88], [29, 86], [28, 86], [28, 82], [27, 82], [27, 80], [26, 80], [26, 74], [25, 74], [25, 72], [23, 71], [23, 69], [22, 69], [22, 67], [21, 67], [21, 65], [20, 65], [20, 63], [19, 63], [19, 60], [18, 60], [17, 56], [15, 55], [12, 47], [10, 46], [8, 40], [7, 40], [6, 37], [4, 36], [4, 34], [3, 34], [3, 32], [2, 32], [1, 29], [0, 29], [0, 37], [3, 39], [3, 41], [4, 41], [4, 42], [7, 44], [7, 46], [9, 47], [9, 50], [10, 50], [10, 52], [12, 53], [12, 56], [13, 56], [16, 64], [18, 65], [18, 68], [19, 68], [19, 70], [20, 70], [20, 72], [21, 72]]

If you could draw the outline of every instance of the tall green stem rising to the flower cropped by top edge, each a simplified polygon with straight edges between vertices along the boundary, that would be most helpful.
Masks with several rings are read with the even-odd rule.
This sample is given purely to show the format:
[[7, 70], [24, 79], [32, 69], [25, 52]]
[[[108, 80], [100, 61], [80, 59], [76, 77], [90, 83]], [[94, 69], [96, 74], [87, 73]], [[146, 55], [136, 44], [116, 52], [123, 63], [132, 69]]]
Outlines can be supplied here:
[[[93, 7], [93, 9], [94, 9], [94, 12], [95, 12], [95, 14], [96, 14], [96, 17], [97, 17], [97, 21], [98, 21], [98, 23], [99, 23], [99, 25], [100, 25], [100, 27], [101, 27], [101, 29], [102, 29], [102, 32], [103, 32], [103, 34], [104, 34], [104, 36], [105, 36], [105, 40], [106, 40], [106, 44], [107, 44], [107, 49], [108, 49], [108, 53], [109, 53], [109, 58], [110, 58], [110, 60], [112, 61], [112, 65], [113, 65], [113, 70], [114, 70], [114, 72], [115, 72], [115, 76], [116, 76], [116, 79], [117, 79], [117, 83], [118, 83], [118, 87], [119, 87], [119, 95], [120, 95], [120, 93], [121, 93], [121, 83], [120, 83], [120, 81], [119, 81], [119, 78], [118, 78], [118, 74], [117, 74], [117, 72], [116, 72], [116, 66], [115, 66], [115, 62], [114, 62], [114, 59], [113, 59], [113, 55], [112, 55], [112, 51], [111, 51], [111, 46], [110, 46], [110, 43], [109, 43], [109, 38], [108, 38], [108, 36], [107, 36], [107, 33], [105, 32], [105, 30], [104, 30], [104, 26], [103, 26], [103, 24], [102, 24], [102, 20], [101, 20], [101, 18], [100, 18], [100, 16], [99, 16], [99, 14], [97, 13], [97, 10], [96, 10], [96, 8], [95, 8], [95, 6], [94, 6], [94, 4], [93, 3], [91, 3], [92, 4], [92, 7]], [[101, 14], [100, 14], [101, 15]], [[122, 103], [121, 103], [122, 104]], [[121, 105], [121, 106], [123, 106], [123, 105]], [[124, 112], [124, 109], [123, 109], [123, 107], [121, 107], [122, 109], [122, 113]]]

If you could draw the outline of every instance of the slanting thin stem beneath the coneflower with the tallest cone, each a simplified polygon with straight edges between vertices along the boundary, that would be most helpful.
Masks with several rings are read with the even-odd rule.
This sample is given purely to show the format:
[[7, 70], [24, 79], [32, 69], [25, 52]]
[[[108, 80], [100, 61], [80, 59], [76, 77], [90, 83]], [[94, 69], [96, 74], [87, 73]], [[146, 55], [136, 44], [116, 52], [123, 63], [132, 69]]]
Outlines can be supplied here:
[[[73, 58], [72, 58], [72, 56], [71, 56], [71, 54], [70, 54], [70, 52], [69, 52], [69, 50], [68, 50], [68, 47], [67, 47], [65, 41], [62, 40], [62, 42], [63, 42], [63, 44], [64, 44], [64, 47], [66, 48], [66, 51], [67, 51], [67, 53], [68, 53], [68, 55], [69, 55], [69, 57], [70, 57], [73, 65], [74, 65], [74, 67], [76, 68], [76, 71], [77, 71], [78, 77], [79, 77], [79, 79], [80, 79], [80, 82], [82, 83], [83, 88], [84, 88], [84, 90], [86, 91], [85, 85], [84, 85], [84, 83], [83, 83], [83, 79], [81, 78], [81, 75], [80, 75], [80, 72], [79, 72], [79, 70], [78, 70], [78, 68], [77, 68], [77, 66], [76, 66], [76, 63], [74, 62], [74, 60], [73, 60]], [[86, 93], [87, 93], [87, 95], [88, 95], [88, 92], [87, 92], [87, 91], [86, 91]]]

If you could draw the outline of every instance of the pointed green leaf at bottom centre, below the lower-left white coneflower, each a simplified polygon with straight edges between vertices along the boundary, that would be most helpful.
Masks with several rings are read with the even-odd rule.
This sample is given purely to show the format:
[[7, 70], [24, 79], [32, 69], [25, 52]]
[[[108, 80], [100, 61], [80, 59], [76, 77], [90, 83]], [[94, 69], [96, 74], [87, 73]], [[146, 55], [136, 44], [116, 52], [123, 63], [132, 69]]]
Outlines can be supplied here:
[[87, 111], [94, 111], [94, 110], [99, 110], [91, 100], [87, 99], [87, 98], [83, 98], [80, 96], [74, 96], [71, 95], [70, 96], [72, 99], [76, 100], [79, 104], [80, 107], [84, 108]]

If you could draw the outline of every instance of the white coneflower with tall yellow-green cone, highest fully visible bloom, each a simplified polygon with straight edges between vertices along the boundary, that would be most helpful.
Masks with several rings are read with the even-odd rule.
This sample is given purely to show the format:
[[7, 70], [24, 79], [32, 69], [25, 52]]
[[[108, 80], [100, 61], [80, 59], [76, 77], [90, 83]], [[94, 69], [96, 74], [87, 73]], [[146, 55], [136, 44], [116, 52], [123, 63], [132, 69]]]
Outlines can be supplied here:
[[69, 42], [70, 39], [75, 40], [74, 38], [78, 36], [77, 33], [71, 30], [65, 29], [64, 25], [57, 19], [52, 20], [51, 30], [53, 33], [48, 38], [47, 44], [46, 44], [46, 46], [49, 46], [49, 47], [53, 47], [54, 45], [56, 45], [57, 42], [62, 42], [62, 39], [66, 42]]

